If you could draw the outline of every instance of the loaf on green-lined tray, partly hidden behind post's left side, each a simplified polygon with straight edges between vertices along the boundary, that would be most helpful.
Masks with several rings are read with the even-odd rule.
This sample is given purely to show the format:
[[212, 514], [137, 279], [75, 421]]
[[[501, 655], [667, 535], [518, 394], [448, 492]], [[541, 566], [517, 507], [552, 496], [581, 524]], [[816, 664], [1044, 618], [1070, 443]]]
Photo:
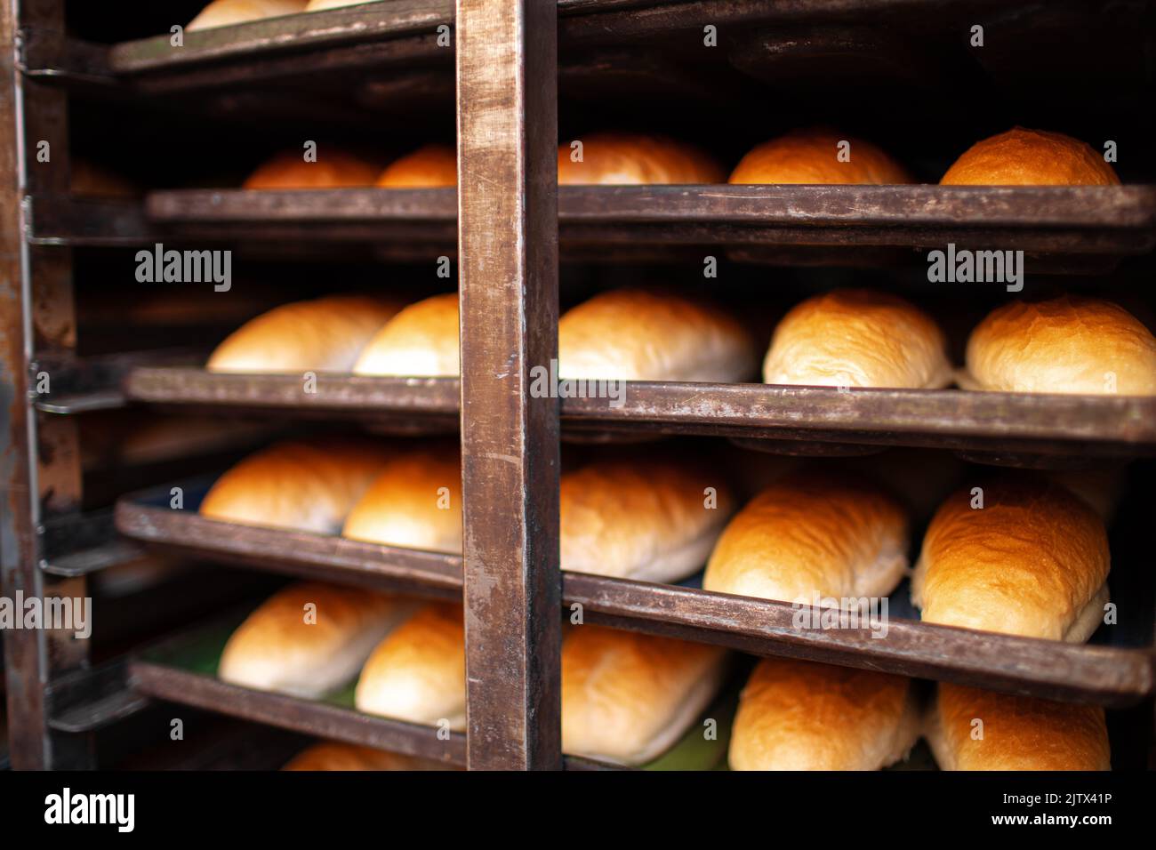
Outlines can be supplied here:
[[466, 727], [466, 634], [461, 607], [427, 605], [378, 644], [357, 681], [358, 711], [408, 723]]

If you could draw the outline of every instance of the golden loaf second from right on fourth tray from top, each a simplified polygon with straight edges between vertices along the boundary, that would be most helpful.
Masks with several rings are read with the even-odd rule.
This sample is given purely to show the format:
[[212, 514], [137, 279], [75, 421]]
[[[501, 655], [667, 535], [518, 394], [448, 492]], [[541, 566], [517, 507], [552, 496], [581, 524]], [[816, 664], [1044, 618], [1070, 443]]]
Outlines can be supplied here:
[[853, 478], [800, 472], [756, 496], [719, 538], [705, 590], [810, 605], [884, 597], [907, 568], [907, 520]]

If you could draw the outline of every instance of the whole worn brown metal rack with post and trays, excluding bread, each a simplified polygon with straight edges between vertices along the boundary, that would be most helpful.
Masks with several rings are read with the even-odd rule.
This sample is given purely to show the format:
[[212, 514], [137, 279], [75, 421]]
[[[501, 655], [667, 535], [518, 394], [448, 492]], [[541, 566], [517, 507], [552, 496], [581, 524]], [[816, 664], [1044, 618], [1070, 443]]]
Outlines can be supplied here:
[[[852, 3], [854, 5], [854, 3]], [[725, 436], [749, 448], [821, 446], [838, 454], [887, 445], [1047, 465], [1072, 456], [1156, 454], [1156, 404], [964, 392], [854, 391], [762, 385], [638, 383], [628, 404], [534, 398], [528, 371], [556, 356], [561, 257], [646, 258], [718, 245], [741, 258], [795, 259], [955, 241], [1023, 247], [1081, 269], [1111, 268], [1156, 245], [1156, 187], [1111, 192], [939, 186], [563, 187], [556, 185], [560, 45], [599, 47], [623, 35], [716, 25], [837, 21], [845, 2], [814, 0], [391, 0], [260, 21], [191, 36], [103, 46], [65, 35], [64, 0], [0, 10], [9, 50], [0, 94], [0, 378], [3, 592], [84, 596], [87, 576], [160, 547], [288, 575], [461, 597], [466, 606], [468, 731], [430, 730], [348, 709], [224, 685], [157, 660], [164, 648], [94, 666], [84, 642], [51, 633], [5, 635], [10, 757], [16, 768], [95, 767], [92, 731], [168, 700], [283, 729], [482, 769], [596, 768], [563, 759], [560, 611], [590, 622], [718, 643], [763, 655], [962, 681], [1106, 705], [1151, 705], [1156, 655], [1147, 648], [1057, 646], [901, 622], [885, 645], [866, 634], [805, 634], [790, 606], [694, 587], [560, 574], [558, 478], [563, 431]], [[860, 0], [873, 14], [917, 14], [914, 0]], [[947, 2], [949, 16], [1005, 14], [986, 0]], [[939, 13], [938, 13], [939, 14]], [[238, 90], [290, 74], [413, 64], [414, 84], [447, 68], [436, 36], [453, 29], [459, 192], [151, 192], [143, 204], [69, 194], [71, 96]], [[765, 38], [765, 36], [759, 36]], [[822, 40], [813, 31], [809, 37]], [[853, 39], [852, 39], [853, 40]], [[870, 50], [869, 38], [860, 39]], [[749, 46], [749, 45], [748, 45]], [[757, 45], [755, 45], [757, 47]], [[877, 45], [875, 45], [877, 46]], [[742, 57], [739, 57], [742, 60]], [[431, 65], [433, 64], [433, 65]], [[37, 169], [47, 140], [57, 168]], [[60, 168], [60, 165], [64, 168]], [[187, 352], [75, 356], [73, 246], [154, 241], [369, 241], [383, 257], [457, 252], [460, 380], [321, 376], [314, 396], [295, 379], [209, 375]], [[52, 392], [38, 394], [47, 372]], [[320, 535], [214, 524], [120, 500], [114, 516], [80, 510], [80, 414], [132, 404], [366, 420], [459, 429], [461, 557]], [[173, 638], [179, 644], [187, 640]]]

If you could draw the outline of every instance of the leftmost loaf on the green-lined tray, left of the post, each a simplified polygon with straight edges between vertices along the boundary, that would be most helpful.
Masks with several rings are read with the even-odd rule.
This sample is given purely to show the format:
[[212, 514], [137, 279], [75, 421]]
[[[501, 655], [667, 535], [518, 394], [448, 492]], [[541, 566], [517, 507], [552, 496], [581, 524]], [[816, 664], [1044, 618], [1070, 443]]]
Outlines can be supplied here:
[[292, 584], [232, 633], [217, 675], [247, 688], [321, 696], [357, 675], [412, 609], [408, 600], [360, 587]]

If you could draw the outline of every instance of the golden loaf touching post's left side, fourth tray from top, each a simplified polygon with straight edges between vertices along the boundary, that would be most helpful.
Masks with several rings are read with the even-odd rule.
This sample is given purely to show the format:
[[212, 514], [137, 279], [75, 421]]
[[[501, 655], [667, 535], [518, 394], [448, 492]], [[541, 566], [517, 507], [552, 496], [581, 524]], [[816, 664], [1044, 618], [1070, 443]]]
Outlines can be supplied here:
[[388, 461], [349, 512], [342, 537], [461, 553], [461, 460], [455, 446]]

